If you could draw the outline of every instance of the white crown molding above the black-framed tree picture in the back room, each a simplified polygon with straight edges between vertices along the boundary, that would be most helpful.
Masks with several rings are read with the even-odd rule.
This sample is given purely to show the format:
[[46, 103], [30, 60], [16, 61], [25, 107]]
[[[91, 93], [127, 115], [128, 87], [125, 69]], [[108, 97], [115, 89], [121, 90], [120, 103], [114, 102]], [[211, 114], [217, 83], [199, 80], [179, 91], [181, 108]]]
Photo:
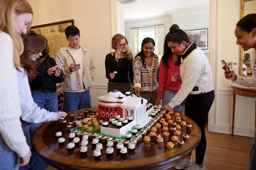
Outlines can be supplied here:
[[210, 13], [210, 6], [200, 5], [200, 6], [189, 7], [189, 8], [180, 8], [175, 10], [164, 11], [164, 13], [171, 14], [172, 18], [207, 14], [207, 13]]

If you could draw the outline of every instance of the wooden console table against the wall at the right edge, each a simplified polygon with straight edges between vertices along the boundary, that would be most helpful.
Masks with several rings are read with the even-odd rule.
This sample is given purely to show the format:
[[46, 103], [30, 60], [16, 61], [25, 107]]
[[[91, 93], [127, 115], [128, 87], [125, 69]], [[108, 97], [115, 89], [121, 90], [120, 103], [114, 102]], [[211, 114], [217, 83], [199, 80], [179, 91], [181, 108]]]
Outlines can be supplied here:
[[[245, 97], [256, 97], [256, 89], [251, 89], [242, 85], [231, 85], [233, 87], [233, 115], [232, 115], [232, 135], [234, 135], [234, 120], [235, 120], [235, 109], [236, 109], [236, 94]], [[256, 108], [256, 99], [255, 99]], [[255, 109], [256, 115], [256, 109]], [[255, 127], [256, 127], [256, 117], [255, 117]]]

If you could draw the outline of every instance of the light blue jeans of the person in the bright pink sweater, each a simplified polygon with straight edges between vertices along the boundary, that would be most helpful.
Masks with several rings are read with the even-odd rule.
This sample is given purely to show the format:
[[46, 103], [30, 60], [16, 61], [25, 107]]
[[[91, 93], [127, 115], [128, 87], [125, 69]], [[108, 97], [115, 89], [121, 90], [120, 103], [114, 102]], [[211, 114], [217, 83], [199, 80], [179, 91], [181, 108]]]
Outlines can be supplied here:
[[[163, 98], [162, 98], [162, 106], [170, 103], [171, 99], [177, 94], [178, 90], [164, 90], [163, 91]], [[180, 105], [175, 106], [172, 108], [173, 111], [179, 112], [184, 115], [185, 107]]]

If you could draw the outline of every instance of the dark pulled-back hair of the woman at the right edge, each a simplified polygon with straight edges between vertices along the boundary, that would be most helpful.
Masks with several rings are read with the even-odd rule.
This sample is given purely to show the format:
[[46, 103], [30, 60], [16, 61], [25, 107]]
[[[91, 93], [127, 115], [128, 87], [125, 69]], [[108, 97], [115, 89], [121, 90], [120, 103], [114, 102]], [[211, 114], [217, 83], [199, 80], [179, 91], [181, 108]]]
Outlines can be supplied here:
[[242, 31], [250, 33], [252, 29], [256, 28], [256, 14], [248, 14], [240, 19], [236, 26], [240, 27]]

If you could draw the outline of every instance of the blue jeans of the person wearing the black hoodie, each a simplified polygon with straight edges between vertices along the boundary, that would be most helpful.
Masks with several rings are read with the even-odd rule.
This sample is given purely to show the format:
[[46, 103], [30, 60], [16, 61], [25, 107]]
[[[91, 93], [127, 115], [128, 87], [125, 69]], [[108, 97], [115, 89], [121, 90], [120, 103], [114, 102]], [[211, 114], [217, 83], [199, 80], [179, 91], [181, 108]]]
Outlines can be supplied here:
[[58, 112], [58, 97], [56, 92], [45, 92], [41, 90], [32, 91], [34, 102], [41, 109], [49, 112]]

